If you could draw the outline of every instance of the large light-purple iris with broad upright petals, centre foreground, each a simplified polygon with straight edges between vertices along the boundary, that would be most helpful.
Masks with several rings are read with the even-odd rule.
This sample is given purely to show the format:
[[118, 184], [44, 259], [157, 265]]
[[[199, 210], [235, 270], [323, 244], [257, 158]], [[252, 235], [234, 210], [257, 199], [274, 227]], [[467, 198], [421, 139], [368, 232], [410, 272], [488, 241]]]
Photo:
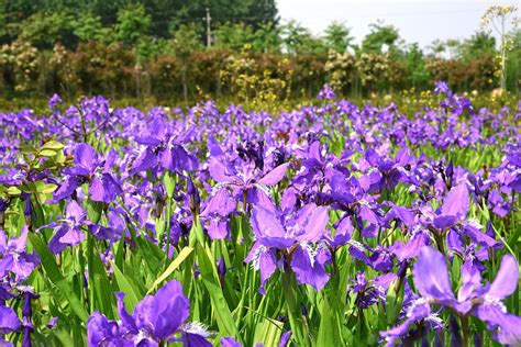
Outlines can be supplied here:
[[245, 261], [260, 270], [262, 294], [266, 281], [279, 265], [277, 250], [282, 251], [286, 261], [282, 270], [287, 271], [287, 266], [290, 266], [299, 283], [310, 284], [317, 290], [325, 286], [330, 277], [325, 265], [331, 261], [331, 254], [325, 244], [319, 242], [324, 237], [328, 221], [328, 208], [314, 204], [304, 205], [291, 215], [262, 206], [253, 209], [250, 223], [255, 244]]

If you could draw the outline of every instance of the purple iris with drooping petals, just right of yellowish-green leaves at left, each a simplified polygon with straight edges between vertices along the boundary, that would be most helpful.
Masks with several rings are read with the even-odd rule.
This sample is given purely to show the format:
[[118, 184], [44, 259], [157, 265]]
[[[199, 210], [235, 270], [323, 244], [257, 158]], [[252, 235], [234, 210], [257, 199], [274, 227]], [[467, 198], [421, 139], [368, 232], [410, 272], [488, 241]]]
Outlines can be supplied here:
[[88, 144], [76, 146], [74, 163], [76, 167], [65, 169], [64, 182], [54, 193], [54, 201], [70, 197], [84, 182], [89, 182], [89, 195], [93, 201], [109, 203], [123, 191], [117, 179], [110, 174], [117, 153], [109, 152], [107, 158], [98, 156]]

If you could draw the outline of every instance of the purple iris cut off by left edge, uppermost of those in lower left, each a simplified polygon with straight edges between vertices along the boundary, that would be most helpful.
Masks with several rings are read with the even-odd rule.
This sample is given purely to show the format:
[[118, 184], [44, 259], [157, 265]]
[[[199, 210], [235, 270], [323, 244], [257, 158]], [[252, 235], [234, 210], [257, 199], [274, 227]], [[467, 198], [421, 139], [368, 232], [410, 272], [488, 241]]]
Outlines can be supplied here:
[[29, 228], [24, 226], [20, 237], [8, 237], [0, 230], [0, 278], [9, 272], [16, 276], [16, 281], [25, 280], [40, 264], [36, 254], [26, 253]]

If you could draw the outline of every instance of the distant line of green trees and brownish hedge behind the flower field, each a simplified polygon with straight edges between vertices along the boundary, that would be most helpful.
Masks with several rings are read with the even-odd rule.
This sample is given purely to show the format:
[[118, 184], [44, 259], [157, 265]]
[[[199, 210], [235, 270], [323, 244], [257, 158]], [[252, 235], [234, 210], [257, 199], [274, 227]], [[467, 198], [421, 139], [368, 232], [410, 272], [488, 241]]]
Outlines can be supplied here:
[[[521, 33], [512, 37], [507, 86], [519, 92]], [[275, 0], [0, 0], [4, 97], [191, 100], [241, 92], [247, 99], [270, 86], [297, 98], [324, 83], [340, 93], [367, 94], [423, 90], [435, 80], [455, 90], [489, 90], [498, 81], [496, 46], [492, 36], [477, 32], [433, 42], [424, 52], [384, 22], [372, 24], [355, 45], [343, 22], [321, 36], [295, 21], [280, 23]]]

